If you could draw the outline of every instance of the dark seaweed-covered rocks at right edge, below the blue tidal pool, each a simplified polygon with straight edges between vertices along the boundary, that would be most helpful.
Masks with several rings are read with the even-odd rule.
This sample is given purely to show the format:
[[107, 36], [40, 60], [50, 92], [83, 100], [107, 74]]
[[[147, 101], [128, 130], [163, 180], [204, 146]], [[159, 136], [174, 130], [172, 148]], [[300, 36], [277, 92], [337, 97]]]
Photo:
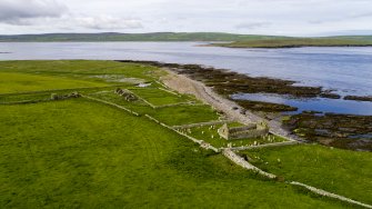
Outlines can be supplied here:
[[372, 151], [372, 116], [301, 113], [283, 123], [310, 141], [352, 150]]

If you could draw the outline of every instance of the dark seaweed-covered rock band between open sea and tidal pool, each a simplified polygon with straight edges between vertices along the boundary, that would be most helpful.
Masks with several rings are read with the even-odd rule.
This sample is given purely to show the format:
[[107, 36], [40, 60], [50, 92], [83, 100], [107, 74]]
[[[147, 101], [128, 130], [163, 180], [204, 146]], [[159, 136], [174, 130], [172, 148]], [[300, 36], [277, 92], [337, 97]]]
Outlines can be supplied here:
[[[323, 87], [293, 86], [294, 83], [298, 83], [298, 81], [294, 80], [284, 80], [274, 77], [251, 77], [229, 69], [219, 69], [202, 64], [180, 64], [180, 63], [167, 63], [159, 61], [141, 61], [141, 60], [115, 60], [115, 61], [143, 63], [143, 64], [155, 66], [159, 68], [169, 68], [179, 74], [188, 74], [193, 80], [207, 81], [203, 83], [205, 83], [209, 87], [213, 87], [217, 90], [217, 92], [222, 96], [230, 96], [234, 93], [275, 93], [279, 96], [293, 96], [295, 98], [304, 98], [304, 99], [325, 98], [325, 99], [335, 99], [335, 100], [341, 99], [349, 101], [350, 100], [372, 101], [372, 96], [352, 96], [352, 94], [340, 96], [338, 93], [334, 93], [335, 90], [324, 89]], [[205, 72], [209, 72], [210, 74], [207, 77], [200, 76], [201, 73]], [[270, 103], [270, 102], [262, 102], [262, 103]], [[271, 103], [271, 104], [281, 106], [282, 110], [280, 111], [293, 110], [293, 107], [290, 106], [280, 103]], [[241, 103], [241, 106], [244, 104]]]

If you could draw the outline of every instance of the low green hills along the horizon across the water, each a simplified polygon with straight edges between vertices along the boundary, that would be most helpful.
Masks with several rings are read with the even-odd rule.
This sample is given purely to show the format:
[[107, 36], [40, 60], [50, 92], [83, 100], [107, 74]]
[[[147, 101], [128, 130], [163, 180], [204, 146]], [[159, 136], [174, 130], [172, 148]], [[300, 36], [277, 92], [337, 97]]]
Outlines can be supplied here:
[[295, 38], [223, 32], [153, 32], [153, 33], [46, 33], [0, 36], [0, 42], [98, 42], [98, 41], [225, 41], [213, 46], [231, 48], [292, 47], [364, 47], [372, 46], [372, 36]]

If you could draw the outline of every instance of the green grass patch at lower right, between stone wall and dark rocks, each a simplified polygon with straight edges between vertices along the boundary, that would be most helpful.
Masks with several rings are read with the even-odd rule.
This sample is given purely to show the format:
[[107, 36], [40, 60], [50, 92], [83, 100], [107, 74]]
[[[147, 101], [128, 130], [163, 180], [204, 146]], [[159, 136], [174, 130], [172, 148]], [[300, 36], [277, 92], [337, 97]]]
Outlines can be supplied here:
[[372, 153], [319, 145], [262, 148], [243, 151], [252, 163], [288, 181], [372, 203]]

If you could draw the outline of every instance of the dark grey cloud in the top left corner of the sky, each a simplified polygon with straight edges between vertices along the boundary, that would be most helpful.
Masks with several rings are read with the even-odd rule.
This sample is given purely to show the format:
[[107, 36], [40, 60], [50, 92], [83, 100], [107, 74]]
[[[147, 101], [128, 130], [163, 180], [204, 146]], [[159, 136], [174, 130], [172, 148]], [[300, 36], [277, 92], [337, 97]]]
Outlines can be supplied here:
[[0, 22], [29, 24], [33, 18], [58, 18], [68, 8], [56, 0], [1, 0]]

